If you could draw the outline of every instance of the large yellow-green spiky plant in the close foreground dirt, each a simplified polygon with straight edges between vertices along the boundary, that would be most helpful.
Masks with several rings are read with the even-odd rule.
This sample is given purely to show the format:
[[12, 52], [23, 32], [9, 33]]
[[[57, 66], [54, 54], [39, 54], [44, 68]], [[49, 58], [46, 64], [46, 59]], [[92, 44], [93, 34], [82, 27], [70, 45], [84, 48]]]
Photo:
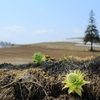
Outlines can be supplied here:
[[68, 89], [68, 94], [76, 92], [79, 96], [82, 96], [82, 86], [90, 82], [84, 81], [85, 75], [80, 70], [75, 70], [66, 75], [65, 80], [62, 82], [65, 84], [64, 88]]

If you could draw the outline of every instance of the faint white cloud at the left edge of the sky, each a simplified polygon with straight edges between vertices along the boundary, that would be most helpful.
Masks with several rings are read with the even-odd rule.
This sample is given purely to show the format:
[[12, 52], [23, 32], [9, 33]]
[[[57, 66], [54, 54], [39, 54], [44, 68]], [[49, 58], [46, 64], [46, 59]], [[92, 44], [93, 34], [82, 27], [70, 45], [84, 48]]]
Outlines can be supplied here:
[[15, 31], [23, 33], [26, 29], [22, 26], [7, 26], [7, 27], [0, 27], [0, 31]]

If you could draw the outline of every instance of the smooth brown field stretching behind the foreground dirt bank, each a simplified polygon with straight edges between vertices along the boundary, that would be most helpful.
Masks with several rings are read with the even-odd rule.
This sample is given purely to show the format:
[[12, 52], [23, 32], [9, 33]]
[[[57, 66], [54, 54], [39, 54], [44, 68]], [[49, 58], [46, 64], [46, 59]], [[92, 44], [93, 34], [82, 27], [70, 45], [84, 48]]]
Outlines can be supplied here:
[[[32, 55], [36, 52], [48, 54], [55, 59], [63, 55], [75, 55], [79, 57], [95, 56], [99, 52], [90, 52], [90, 47], [75, 46], [75, 43], [50, 42], [30, 45], [19, 45], [17, 47], [0, 48], [0, 63], [23, 64], [32, 62]], [[100, 48], [94, 48], [100, 50]]]

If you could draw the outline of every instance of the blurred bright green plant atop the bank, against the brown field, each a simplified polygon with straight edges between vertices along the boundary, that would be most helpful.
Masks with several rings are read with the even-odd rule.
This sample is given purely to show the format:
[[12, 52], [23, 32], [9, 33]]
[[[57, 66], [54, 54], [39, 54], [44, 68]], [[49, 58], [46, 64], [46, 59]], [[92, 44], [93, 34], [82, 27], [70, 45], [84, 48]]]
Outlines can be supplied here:
[[34, 53], [32, 57], [33, 57], [34, 64], [40, 64], [41, 62], [45, 61], [44, 54], [42, 54], [41, 52]]

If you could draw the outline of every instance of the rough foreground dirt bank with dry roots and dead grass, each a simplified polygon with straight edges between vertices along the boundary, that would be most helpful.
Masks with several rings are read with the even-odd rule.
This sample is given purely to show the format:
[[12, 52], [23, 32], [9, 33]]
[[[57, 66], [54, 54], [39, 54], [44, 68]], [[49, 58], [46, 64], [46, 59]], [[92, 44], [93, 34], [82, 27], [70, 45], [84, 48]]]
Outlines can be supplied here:
[[[0, 65], [0, 100], [100, 100], [100, 56], [89, 61], [56, 61]], [[83, 86], [82, 97], [62, 90], [63, 77], [80, 69], [90, 84]]]

